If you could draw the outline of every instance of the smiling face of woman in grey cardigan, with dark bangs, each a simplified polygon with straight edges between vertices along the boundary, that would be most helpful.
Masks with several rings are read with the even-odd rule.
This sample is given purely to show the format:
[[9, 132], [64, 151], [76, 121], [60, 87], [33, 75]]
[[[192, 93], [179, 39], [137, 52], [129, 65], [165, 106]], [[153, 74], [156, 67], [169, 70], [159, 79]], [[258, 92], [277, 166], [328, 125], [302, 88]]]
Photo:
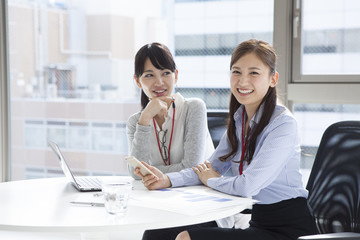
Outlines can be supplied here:
[[144, 72], [136, 78], [137, 85], [142, 88], [150, 99], [162, 96], [171, 96], [177, 82], [177, 70], [157, 69], [147, 58], [144, 64]]

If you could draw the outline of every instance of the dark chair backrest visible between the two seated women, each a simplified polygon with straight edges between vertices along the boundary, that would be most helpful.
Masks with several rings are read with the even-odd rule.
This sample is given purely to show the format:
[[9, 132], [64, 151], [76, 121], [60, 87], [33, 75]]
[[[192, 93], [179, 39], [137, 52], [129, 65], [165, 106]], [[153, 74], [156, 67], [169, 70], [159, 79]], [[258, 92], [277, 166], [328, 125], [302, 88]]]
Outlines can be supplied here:
[[227, 129], [228, 111], [208, 111], [207, 120], [211, 138], [216, 148]]

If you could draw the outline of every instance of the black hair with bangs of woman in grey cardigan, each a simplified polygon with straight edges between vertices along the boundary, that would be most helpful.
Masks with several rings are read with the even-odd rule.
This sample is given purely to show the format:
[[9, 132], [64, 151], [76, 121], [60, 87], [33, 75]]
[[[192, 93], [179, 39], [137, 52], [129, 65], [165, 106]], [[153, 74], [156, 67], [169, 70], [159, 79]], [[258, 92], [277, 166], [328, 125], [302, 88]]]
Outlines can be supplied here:
[[[146, 59], [157, 69], [176, 71], [176, 64], [170, 50], [161, 43], [150, 43], [142, 46], [135, 56], [135, 76], [139, 79], [144, 73]], [[149, 97], [141, 90], [141, 107], [144, 109], [149, 103]]]

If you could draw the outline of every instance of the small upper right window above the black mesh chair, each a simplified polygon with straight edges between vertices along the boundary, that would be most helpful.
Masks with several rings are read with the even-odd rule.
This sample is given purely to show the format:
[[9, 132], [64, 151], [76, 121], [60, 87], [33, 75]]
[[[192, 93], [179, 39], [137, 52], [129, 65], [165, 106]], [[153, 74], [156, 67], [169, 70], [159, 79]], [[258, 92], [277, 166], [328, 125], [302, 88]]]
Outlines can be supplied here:
[[360, 2], [296, 0], [293, 81], [360, 82]]

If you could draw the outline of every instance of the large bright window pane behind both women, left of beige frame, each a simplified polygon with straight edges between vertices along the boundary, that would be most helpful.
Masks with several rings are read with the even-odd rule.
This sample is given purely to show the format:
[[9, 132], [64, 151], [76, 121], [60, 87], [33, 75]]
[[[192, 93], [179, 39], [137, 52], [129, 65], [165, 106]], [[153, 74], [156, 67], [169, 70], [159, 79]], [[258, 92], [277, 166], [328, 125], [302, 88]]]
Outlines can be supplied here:
[[61, 174], [49, 138], [76, 173], [127, 174], [133, 61], [149, 42], [173, 52], [179, 92], [227, 109], [230, 54], [249, 38], [272, 42], [273, 3], [8, 0], [11, 179]]

